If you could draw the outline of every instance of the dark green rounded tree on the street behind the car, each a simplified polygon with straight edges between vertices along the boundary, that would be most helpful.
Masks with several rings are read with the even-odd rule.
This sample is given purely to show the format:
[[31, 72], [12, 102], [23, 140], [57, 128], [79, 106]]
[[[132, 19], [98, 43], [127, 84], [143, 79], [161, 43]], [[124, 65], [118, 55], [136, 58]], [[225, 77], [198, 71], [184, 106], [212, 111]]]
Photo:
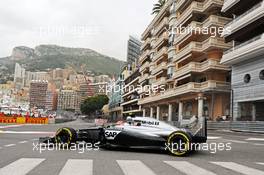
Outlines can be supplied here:
[[88, 116], [94, 116], [96, 112], [102, 110], [103, 106], [108, 104], [109, 98], [106, 95], [96, 95], [88, 97], [81, 104], [81, 112]]

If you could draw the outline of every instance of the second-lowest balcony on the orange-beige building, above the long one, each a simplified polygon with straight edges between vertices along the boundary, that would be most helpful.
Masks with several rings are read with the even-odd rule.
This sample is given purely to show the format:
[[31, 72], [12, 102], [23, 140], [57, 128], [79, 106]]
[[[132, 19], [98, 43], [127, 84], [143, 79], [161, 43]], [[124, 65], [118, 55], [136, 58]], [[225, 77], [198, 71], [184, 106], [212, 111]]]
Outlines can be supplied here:
[[189, 74], [191, 72], [202, 73], [202, 72], [205, 72], [205, 71], [210, 70], [210, 69], [226, 70], [226, 71], [230, 70], [230, 68], [228, 66], [222, 65], [216, 60], [207, 60], [207, 61], [204, 61], [202, 63], [190, 62], [189, 64], [181, 67], [176, 72], [174, 72], [173, 78], [177, 79], [177, 78], [179, 78], [183, 75]]

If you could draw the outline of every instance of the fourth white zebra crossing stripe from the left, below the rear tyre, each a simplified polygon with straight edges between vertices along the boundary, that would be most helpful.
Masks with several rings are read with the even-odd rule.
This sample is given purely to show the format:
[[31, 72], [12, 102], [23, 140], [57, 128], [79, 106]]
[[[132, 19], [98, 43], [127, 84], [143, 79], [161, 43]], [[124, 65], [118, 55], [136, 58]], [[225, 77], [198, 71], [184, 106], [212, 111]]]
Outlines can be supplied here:
[[216, 175], [215, 173], [208, 171], [206, 169], [200, 168], [194, 164], [187, 161], [164, 161], [164, 163], [172, 166], [173, 168], [179, 170], [186, 175]]

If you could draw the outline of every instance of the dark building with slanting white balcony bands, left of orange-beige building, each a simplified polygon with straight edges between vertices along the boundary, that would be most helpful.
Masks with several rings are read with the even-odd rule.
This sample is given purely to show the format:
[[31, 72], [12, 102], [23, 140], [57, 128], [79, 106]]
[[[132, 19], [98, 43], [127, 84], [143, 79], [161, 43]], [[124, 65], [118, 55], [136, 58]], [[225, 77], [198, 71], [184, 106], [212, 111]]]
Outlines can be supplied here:
[[123, 116], [141, 116], [142, 110], [138, 105], [139, 100], [139, 69], [134, 63], [125, 65], [122, 71], [122, 78], [124, 79], [124, 86], [122, 87], [122, 103]]

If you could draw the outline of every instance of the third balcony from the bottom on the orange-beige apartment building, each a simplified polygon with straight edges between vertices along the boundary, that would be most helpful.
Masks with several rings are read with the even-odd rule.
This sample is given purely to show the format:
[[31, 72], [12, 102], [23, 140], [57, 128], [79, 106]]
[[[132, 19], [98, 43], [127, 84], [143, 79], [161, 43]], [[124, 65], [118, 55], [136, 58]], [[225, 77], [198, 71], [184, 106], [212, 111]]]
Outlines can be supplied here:
[[[232, 47], [231, 43], [225, 43], [223, 38], [209, 37], [203, 42], [190, 42], [184, 48], [182, 48], [173, 58], [173, 61], [179, 61], [180, 59], [192, 54], [192, 52], [204, 53], [210, 49], [229, 49]], [[191, 56], [191, 55], [189, 55]]]

